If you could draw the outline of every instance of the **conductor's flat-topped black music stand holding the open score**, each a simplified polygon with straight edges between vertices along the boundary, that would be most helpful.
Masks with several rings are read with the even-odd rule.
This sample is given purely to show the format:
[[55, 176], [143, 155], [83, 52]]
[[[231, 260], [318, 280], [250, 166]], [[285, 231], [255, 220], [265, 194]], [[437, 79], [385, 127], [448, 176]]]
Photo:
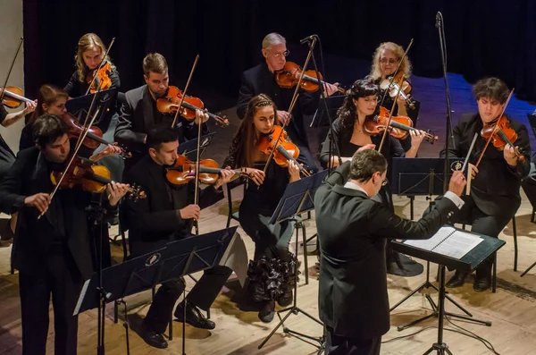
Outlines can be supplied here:
[[[448, 227], [451, 227], [451, 226], [448, 226]], [[392, 241], [393, 249], [396, 249], [399, 252], [402, 252], [404, 254], [411, 255], [412, 257], [415, 257], [415, 258], [422, 258], [424, 260], [428, 260], [431, 263], [435, 263], [440, 266], [440, 287], [439, 287], [438, 309], [434, 310], [434, 312], [431, 315], [417, 320], [417, 322], [420, 322], [421, 320], [427, 319], [430, 317], [438, 317], [438, 322], [439, 322], [438, 341], [434, 342], [431, 345], [431, 348], [428, 351], [424, 352], [423, 355], [430, 354], [432, 351], [437, 351], [437, 353], [441, 355], [445, 353], [452, 355], [452, 352], [448, 350], [447, 343], [443, 342], [443, 325], [444, 325], [444, 320], [445, 320], [444, 318], [446, 316], [450, 316], [450, 317], [461, 317], [461, 316], [457, 316], [457, 315], [453, 315], [451, 313], [445, 312], [445, 298], [447, 296], [447, 291], [445, 290], [445, 267], [455, 268], [456, 270], [470, 273], [477, 266], [479, 266], [482, 263], [482, 261], [489, 258], [492, 254], [496, 253], [498, 249], [502, 248], [506, 244], [505, 241], [501, 241], [498, 238], [491, 238], [487, 235], [474, 233], [474, 232], [466, 232], [464, 230], [460, 230], [457, 228], [455, 229], [458, 231], [465, 232], [468, 234], [473, 234], [482, 238], [482, 242], [480, 244], [478, 244], [471, 251], [465, 254], [464, 257], [459, 258], [459, 259], [451, 258], [445, 255], [436, 253], [434, 251], [420, 249], [413, 245], [408, 245], [406, 244], [406, 241], [402, 241], [402, 242]], [[461, 317], [461, 318], [475, 321], [475, 319], [473, 318], [467, 318], [467, 317]], [[483, 322], [483, 321], [478, 321], [478, 322], [484, 325], [491, 326], [491, 322]]]

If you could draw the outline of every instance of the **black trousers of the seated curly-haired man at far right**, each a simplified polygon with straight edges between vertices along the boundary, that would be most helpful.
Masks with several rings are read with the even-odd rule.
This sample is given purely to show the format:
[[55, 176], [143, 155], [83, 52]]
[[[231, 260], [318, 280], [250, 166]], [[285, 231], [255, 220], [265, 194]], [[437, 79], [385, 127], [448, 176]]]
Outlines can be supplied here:
[[[471, 196], [462, 197], [465, 204], [462, 209], [456, 214], [455, 223], [471, 224], [472, 232], [488, 235], [492, 238], [498, 238], [498, 234], [505, 228], [515, 215], [516, 207], [514, 210], [502, 210], [498, 215], [486, 215], [482, 210], [476, 206]], [[491, 266], [493, 265], [493, 258], [487, 258], [482, 262], [480, 266], [476, 268], [476, 275], [479, 276], [491, 276]]]

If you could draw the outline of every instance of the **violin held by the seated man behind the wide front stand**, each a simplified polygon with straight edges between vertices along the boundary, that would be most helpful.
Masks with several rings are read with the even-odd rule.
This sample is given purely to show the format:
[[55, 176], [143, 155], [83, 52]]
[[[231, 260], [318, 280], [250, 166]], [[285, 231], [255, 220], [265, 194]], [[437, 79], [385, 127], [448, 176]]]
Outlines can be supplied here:
[[[196, 162], [192, 162], [186, 156], [178, 156], [175, 164], [165, 169], [165, 178], [172, 185], [184, 185], [196, 178], [196, 169]], [[214, 184], [220, 177], [222, 170], [213, 159], [201, 160], [199, 162], [199, 182], [207, 185]], [[248, 176], [245, 169], [231, 171], [235, 173], [235, 179], [239, 176]]]

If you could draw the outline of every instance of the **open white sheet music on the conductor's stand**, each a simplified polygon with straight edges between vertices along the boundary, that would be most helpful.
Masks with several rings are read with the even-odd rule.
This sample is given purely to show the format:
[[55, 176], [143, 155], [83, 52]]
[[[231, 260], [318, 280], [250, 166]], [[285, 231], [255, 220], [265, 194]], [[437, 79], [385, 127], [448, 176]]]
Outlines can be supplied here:
[[419, 249], [430, 250], [450, 258], [464, 258], [483, 241], [478, 235], [461, 232], [453, 227], [441, 227], [430, 239], [425, 241], [405, 241], [404, 244]]

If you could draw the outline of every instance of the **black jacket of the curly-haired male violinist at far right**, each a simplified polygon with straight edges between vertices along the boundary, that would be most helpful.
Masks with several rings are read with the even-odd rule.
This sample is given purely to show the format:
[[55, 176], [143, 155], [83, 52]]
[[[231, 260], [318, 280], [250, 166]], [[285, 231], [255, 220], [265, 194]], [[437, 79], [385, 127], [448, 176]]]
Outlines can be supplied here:
[[[515, 146], [519, 146], [525, 156], [525, 160], [518, 161], [515, 168], [510, 167], [504, 158], [504, 153], [490, 146], [486, 149], [482, 161], [478, 166], [479, 173], [471, 182], [471, 197], [476, 206], [487, 215], [510, 214], [513, 215], [521, 203], [519, 187], [521, 180], [531, 168], [531, 145], [526, 127], [522, 123], [510, 120], [510, 126], [517, 132]], [[482, 119], [480, 114], [462, 114], [460, 122], [454, 129], [454, 147], [449, 148], [448, 156], [465, 157], [473, 136], [480, 134]], [[474, 144], [469, 163], [476, 164], [482, 149], [486, 144], [485, 139], [479, 137]], [[445, 152], [441, 152], [444, 156]]]

